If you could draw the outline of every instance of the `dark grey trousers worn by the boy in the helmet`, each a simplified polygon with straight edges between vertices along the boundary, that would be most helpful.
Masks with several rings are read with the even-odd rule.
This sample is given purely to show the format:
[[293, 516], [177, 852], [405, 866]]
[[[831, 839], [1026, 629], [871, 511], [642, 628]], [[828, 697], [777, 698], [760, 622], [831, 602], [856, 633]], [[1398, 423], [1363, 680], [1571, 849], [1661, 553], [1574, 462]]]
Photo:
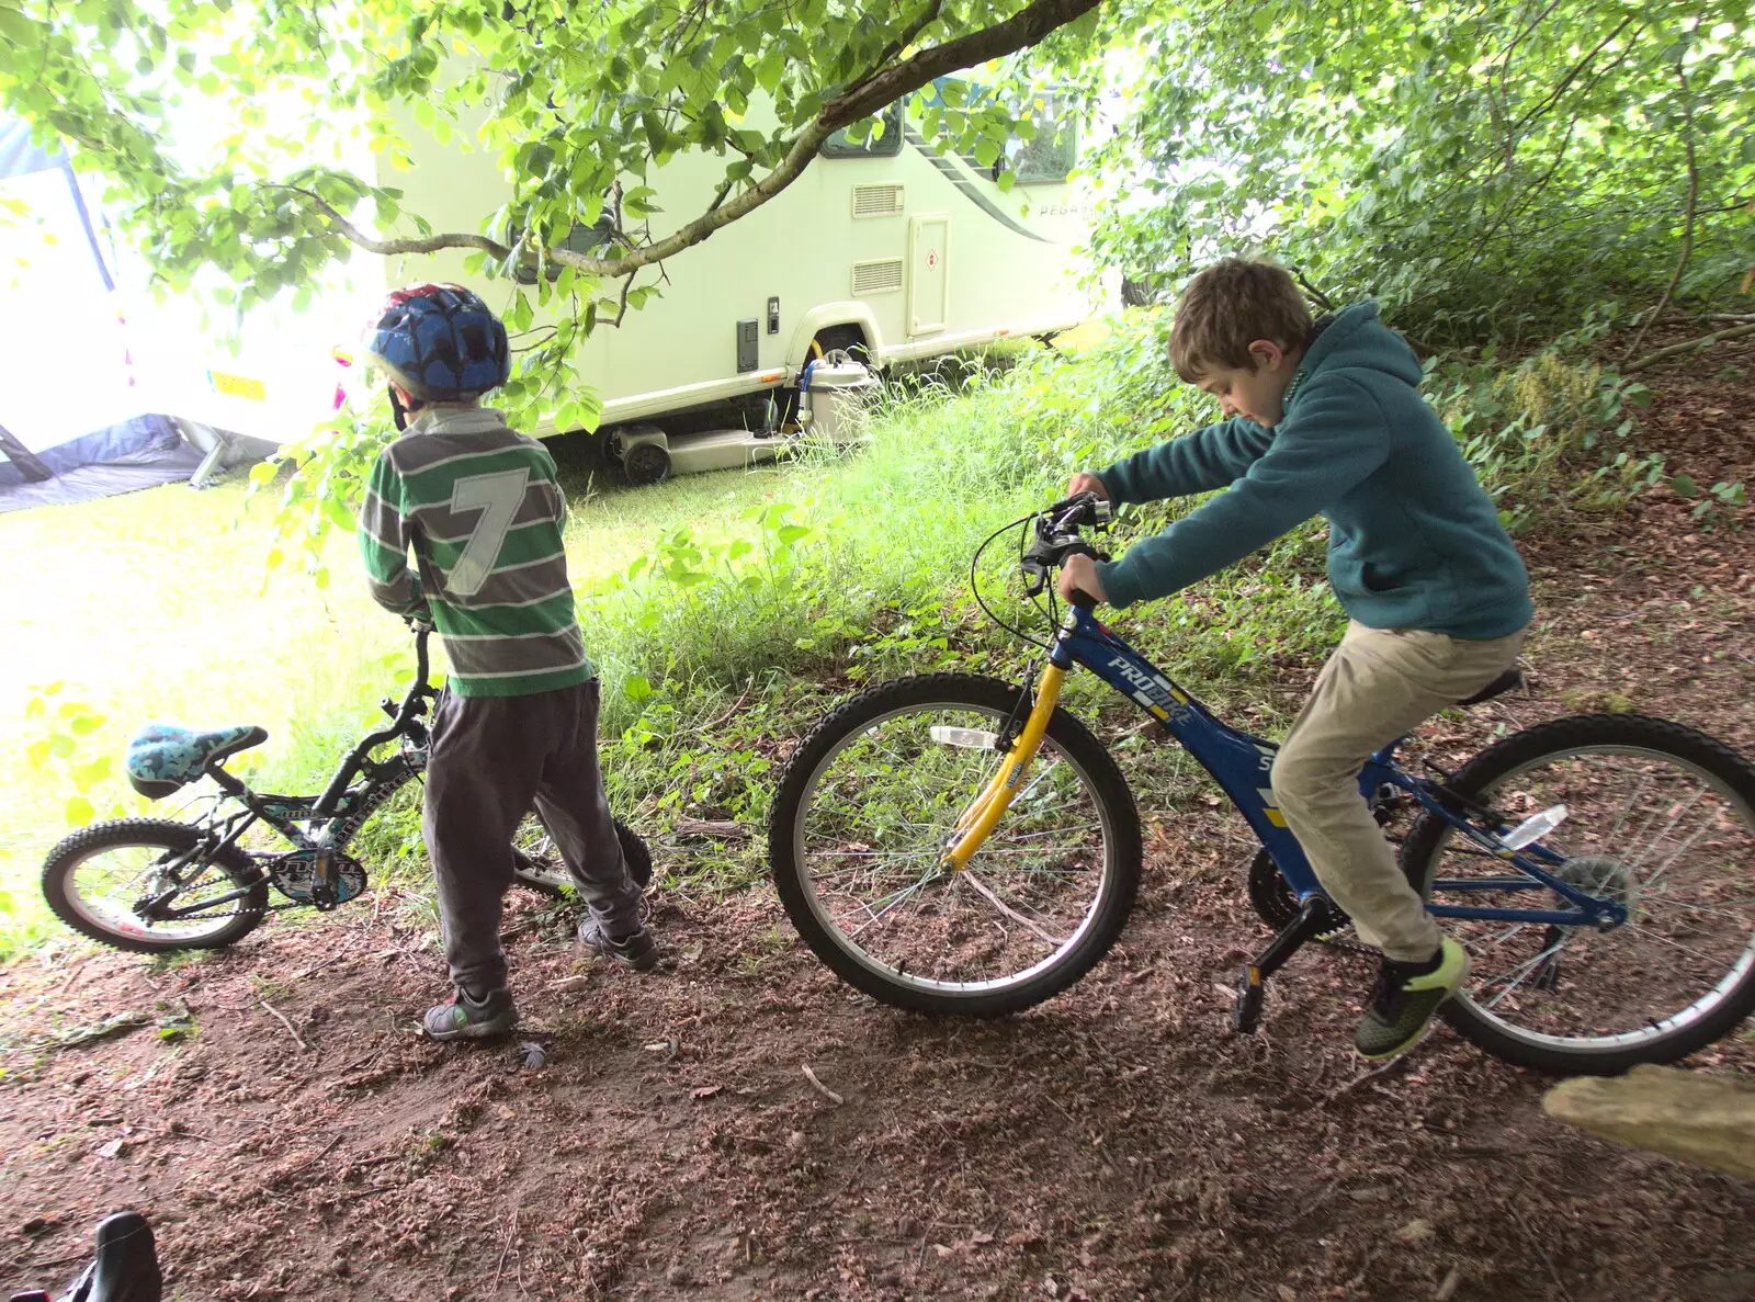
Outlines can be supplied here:
[[532, 809], [604, 930], [639, 926], [641, 888], [621, 862], [597, 767], [597, 679], [534, 697], [446, 691], [433, 711], [421, 830], [451, 981], [470, 995], [505, 984], [512, 832]]

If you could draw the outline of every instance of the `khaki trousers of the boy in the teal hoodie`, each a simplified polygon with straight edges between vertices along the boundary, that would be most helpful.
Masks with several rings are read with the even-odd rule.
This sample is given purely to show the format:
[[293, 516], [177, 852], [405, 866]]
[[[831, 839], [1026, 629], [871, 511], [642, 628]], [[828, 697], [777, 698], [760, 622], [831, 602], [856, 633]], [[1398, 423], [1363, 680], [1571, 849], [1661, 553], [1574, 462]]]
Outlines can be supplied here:
[[1386, 958], [1423, 962], [1443, 937], [1371, 816], [1358, 774], [1379, 748], [1508, 670], [1525, 632], [1471, 642], [1351, 621], [1274, 760], [1274, 798], [1316, 879]]

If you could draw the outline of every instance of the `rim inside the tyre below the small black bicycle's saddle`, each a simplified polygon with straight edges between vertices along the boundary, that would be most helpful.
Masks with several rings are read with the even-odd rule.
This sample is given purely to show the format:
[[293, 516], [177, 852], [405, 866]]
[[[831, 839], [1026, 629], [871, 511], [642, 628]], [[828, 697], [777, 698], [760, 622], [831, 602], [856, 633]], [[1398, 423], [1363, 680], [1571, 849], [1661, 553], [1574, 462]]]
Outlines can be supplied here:
[[[95, 846], [67, 874], [67, 902], [93, 926], [116, 935], [165, 944], [195, 946], [233, 925], [239, 912], [254, 912], [246, 900], [214, 904], [211, 914], [167, 921], [147, 921], [133, 905], [168, 888], [161, 877], [167, 863], [186, 851], [172, 846], [123, 844]], [[237, 881], [219, 863], [198, 863], [170, 902], [174, 909], [197, 909], [204, 900], [219, 900], [237, 890]]]

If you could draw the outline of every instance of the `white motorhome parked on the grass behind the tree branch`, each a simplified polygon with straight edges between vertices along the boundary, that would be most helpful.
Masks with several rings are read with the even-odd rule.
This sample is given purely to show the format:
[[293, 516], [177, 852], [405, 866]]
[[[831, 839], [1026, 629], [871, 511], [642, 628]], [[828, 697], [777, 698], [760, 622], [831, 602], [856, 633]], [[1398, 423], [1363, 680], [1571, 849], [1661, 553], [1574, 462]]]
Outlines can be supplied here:
[[[802, 177], [748, 218], [639, 272], [635, 284], [662, 293], [620, 326], [598, 325], [577, 353], [579, 379], [602, 398], [605, 451], [635, 481], [741, 465], [772, 454], [788, 391], [827, 353], [883, 368], [1090, 318], [1079, 246], [1092, 198], [1069, 181], [1078, 123], [1057, 100], [1039, 105], [1037, 135], [1006, 151], [1009, 191], [972, 156], [939, 154], [899, 102], [881, 126], [830, 137]], [[412, 123], [407, 137], [414, 167], [386, 168], [381, 184], [400, 188], [405, 211], [433, 230], [483, 230], [509, 195], [498, 161], [441, 146]], [[706, 211], [721, 177], [723, 160], [700, 153], [656, 168], [653, 239]], [[572, 244], [590, 251], [597, 239], [581, 226]], [[512, 286], [463, 265], [465, 253], [448, 249], [386, 260], [384, 272], [391, 286], [458, 281], [504, 311]], [[702, 432], [702, 409], [716, 405], [728, 423], [725, 404], [744, 405], [730, 421], [741, 428]], [[634, 447], [644, 451], [628, 458]]]

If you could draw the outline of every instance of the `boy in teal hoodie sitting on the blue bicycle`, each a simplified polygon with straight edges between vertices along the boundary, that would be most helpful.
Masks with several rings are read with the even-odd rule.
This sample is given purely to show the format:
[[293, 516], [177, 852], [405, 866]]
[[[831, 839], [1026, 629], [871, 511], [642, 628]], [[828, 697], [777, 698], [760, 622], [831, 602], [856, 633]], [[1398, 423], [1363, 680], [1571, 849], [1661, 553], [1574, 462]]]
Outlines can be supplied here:
[[1116, 504], [1228, 491], [1118, 562], [1071, 558], [1060, 591], [1113, 605], [1169, 597], [1311, 516], [1329, 521], [1329, 583], [1348, 630], [1279, 749], [1272, 790], [1323, 890], [1383, 951], [1355, 1044], [1388, 1058], [1420, 1039], [1469, 956], [1408, 884], [1358, 772], [1516, 662], [1529, 576], [1376, 304], [1313, 321], [1285, 270], [1227, 258], [1178, 304], [1171, 361], [1228, 419], [1076, 474], [1069, 491]]

